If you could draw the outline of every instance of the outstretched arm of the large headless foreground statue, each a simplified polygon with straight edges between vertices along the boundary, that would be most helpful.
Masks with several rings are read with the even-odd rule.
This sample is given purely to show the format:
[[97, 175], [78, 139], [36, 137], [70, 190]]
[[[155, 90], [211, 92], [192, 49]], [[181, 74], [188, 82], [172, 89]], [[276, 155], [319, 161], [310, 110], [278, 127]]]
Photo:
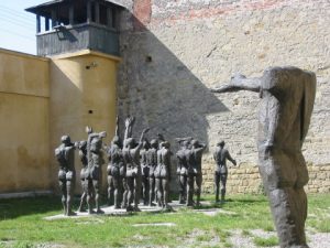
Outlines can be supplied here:
[[244, 75], [235, 74], [229, 84], [220, 87], [212, 88], [211, 93], [231, 93], [239, 90], [250, 90], [258, 93], [262, 87], [261, 78], [246, 78]]

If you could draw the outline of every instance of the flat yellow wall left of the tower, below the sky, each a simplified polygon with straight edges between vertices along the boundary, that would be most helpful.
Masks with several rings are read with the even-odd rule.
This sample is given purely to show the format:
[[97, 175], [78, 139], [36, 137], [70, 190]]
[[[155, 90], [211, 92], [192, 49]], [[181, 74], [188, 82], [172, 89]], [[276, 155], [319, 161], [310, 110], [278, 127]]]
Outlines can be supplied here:
[[0, 193], [46, 190], [48, 60], [0, 50]]

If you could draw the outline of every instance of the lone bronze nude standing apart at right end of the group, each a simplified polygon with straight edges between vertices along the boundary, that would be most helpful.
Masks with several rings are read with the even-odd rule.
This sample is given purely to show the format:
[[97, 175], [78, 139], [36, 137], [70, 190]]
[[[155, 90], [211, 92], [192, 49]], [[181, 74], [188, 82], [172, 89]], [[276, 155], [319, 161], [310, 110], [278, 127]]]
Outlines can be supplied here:
[[221, 203], [224, 202], [226, 184], [228, 177], [227, 160], [237, 165], [237, 161], [231, 158], [229, 151], [224, 149], [224, 141], [217, 143], [216, 151], [213, 153], [216, 161], [215, 170], [215, 187], [216, 187], [216, 202], [219, 202], [219, 184], [221, 183]]

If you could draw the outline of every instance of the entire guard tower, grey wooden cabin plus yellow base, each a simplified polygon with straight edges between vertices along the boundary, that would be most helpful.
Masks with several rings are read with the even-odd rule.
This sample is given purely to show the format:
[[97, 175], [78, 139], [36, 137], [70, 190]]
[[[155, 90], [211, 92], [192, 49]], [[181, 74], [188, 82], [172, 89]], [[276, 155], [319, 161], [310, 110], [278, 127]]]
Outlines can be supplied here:
[[[107, 131], [107, 143], [112, 139], [123, 10], [111, 0], [54, 0], [26, 9], [36, 14], [37, 54], [50, 57], [51, 154], [63, 134], [73, 141], [86, 139], [86, 126]], [[58, 188], [54, 159], [51, 168]], [[78, 159], [75, 168], [81, 168]], [[107, 173], [102, 174], [106, 184]]]

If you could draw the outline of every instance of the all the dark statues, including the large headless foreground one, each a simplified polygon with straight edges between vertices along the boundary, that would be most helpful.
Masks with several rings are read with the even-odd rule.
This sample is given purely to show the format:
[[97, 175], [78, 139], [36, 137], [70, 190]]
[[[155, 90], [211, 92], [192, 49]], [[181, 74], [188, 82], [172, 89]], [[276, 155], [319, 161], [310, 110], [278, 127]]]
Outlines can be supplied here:
[[[280, 247], [306, 248], [305, 220], [307, 196], [304, 186], [308, 182], [308, 171], [301, 153], [307, 134], [316, 94], [316, 76], [311, 72], [296, 67], [271, 67], [261, 78], [249, 79], [242, 75], [232, 77], [229, 85], [212, 89], [213, 93], [251, 90], [262, 98], [258, 129], [260, 173], [270, 198]], [[170, 155], [169, 143], [160, 134], [148, 142], [143, 130], [139, 143], [132, 138], [134, 118], [125, 120], [124, 140], [121, 142], [117, 129], [111, 144], [107, 148], [109, 158], [109, 200], [114, 208], [125, 207], [139, 211], [142, 188], [143, 203], [169, 208]], [[62, 137], [62, 144], [55, 155], [59, 163], [58, 181], [63, 193], [62, 202], [66, 215], [72, 212], [72, 194], [75, 184], [74, 150], [79, 149], [82, 163], [80, 173], [84, 194], [79, 209], [87, 201], [89, 213], [91, 202], [98, 205], [100, 166], [102, 160], [102, 138], [105, 132], [87, 130], [87, 141], [72, 143], [68, 136]], [[179, 203], [187, 206], [200, 204], [201, 155], [206, 144], [193, 138], [177, 138], [180, 145], [176, 153]], [[218, 143], [213, 154], [216, 161], [216, 201], [224, 201], [228, 176], [227, 159], [234, 165], [235, 160]], [[194, 202], [194, 185], [197, 198]], [[131, 205], [133, 203], [133, 206]]]

